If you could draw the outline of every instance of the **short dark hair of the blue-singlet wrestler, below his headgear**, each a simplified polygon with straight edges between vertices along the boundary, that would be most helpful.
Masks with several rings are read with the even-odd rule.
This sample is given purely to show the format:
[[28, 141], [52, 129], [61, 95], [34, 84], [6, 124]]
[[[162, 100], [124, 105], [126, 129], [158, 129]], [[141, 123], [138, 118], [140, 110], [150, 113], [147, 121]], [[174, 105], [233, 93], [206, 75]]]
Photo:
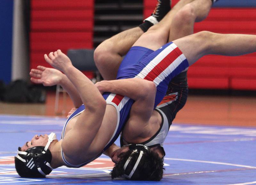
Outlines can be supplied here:
[[[39, 172], [34, 172], [31, 171], [26, 165], [25, 163], [23, 163], [20, 159], [18, 159], [17, 157], [14, 157], [14, 162], [15, 162], [15, 169], [17, 171], [17, 173], [20, 175], [20, 177], [34, 177], [34, 178], [44, 178], [45, 176], [42, 175]], [[49, 174], [49, 173], [48, 173]], [[48, 175], [47, 174], [47, 175]]]

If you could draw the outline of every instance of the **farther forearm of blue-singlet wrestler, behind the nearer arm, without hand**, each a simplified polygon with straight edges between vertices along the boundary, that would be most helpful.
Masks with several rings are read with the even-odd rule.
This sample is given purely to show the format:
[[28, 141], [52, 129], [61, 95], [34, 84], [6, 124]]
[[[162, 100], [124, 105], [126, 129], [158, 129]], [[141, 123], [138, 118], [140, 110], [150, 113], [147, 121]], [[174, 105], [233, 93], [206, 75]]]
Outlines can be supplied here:
[[68, 77], [63, 74], [62, 79], [60, 81], [60, 86], [67, 91], [68, 95], [73, 101], [73, 104], [76, 108], [81, 106], [83, 104], [81, 97], [79, 96], [79, 93], [77, 92], [75, 86], [71, 83], [71, 81], [68, 79]]

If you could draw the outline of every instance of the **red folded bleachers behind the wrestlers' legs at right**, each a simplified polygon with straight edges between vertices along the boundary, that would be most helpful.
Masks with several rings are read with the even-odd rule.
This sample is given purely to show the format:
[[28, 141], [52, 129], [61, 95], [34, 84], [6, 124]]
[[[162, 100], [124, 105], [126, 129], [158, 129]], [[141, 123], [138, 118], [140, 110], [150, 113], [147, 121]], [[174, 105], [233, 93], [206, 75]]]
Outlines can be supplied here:
[[[172, 6], [178, 0], [172, 0]], [[150, 16], [155, 0], [144, 0], [144, 17]], [[216, 33], [256, 33], [256, 8], [212, 8], [209, 16], [196, 23], [194, 31]], [[256, 90], [256, 53], [239, 57], [209, 55], [189, 67], [191, 89]]]

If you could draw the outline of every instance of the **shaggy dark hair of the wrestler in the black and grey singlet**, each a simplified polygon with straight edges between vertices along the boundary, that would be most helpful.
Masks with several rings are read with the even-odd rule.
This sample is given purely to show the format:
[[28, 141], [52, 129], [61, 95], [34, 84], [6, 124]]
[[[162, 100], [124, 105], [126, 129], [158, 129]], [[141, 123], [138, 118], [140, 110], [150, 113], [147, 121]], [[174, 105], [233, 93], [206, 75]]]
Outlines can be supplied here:
[[[130, 163], [132, 165], [127, 166], [127, 171], [131, 171], [136, 160], [139, 156], [138, 152], [133, 153], [132, 150], [128, 150], [127, 152], [121, 153], [118, 157], [121, 160], [115, 164], [111, 174], [111, 178], [114, 179], [116, 177], [120, 177], [124, 175], [124, 164], [126, 160], [132, 156]], [[158, 156], [157, 153], [151, 151], [148, 153], [144, 153], [143, 157], [140, 160], [140, 163], [132, 175], [131, 180], [136, 181], [160, 181], [163, 178], [163, 170], [164, 164], [162, 159]]]

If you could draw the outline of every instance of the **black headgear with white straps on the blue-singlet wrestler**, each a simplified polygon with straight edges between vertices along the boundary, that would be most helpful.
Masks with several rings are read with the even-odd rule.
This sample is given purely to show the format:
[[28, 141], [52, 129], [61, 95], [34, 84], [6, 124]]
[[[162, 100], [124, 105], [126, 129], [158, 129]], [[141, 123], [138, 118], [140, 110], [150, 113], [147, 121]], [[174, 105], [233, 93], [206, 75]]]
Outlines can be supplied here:
[[48, 149], [53, 140], [56, 139], [56, 134], [51, 133], [48, 135], [48, 142], [46, 146], [36, 146], [29, 148], [26, 151], [20, 151], [20, 147], [18, 149], [18, 154], [15, 157], [15, 160], [20, 160], [23, 162], [25, 168], [27, 168], [28, 174], [20, 174], [17, 170], [16, 163], [15, 167], [17, 172], [21, 177], [44, 177], [52, 172], [53, 168], [50, 163], [52, 161], [51, 151]]

